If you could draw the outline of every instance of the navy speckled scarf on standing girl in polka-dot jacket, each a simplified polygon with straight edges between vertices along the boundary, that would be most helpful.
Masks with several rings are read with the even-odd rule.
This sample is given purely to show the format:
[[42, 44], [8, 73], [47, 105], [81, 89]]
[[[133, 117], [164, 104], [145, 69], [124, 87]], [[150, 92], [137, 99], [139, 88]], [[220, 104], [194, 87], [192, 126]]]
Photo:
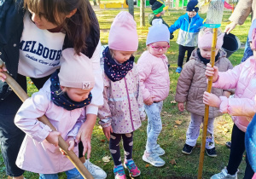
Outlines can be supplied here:
[[107, 77], [113, 82], [125, 78], [127, 72], [129, 72], [133, 67], [134, 56], [132, 55], [128, 61], [118, 64], [110, 55], [110, 50], [108, 47], [104, 49], [102, 54], [104, 58], [104, 71]]

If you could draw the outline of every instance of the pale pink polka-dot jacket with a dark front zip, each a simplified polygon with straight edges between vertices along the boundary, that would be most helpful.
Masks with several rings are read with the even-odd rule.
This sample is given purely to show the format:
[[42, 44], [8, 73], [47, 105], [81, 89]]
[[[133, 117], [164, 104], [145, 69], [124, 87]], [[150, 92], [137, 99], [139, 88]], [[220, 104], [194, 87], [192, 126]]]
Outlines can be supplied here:
[[[104, 59], [101, 60], [102, 68]], [[104, 82], [104, 105], [99, 107], [99, 124], [103, 128], [112, 126], [113, 133], [126, 134], [137, 130], [142, 125], [146, 114], [143, 111], [143, 96], [139, 87], [137, 66], [119, 81], [111, 81], [105, 72]]]

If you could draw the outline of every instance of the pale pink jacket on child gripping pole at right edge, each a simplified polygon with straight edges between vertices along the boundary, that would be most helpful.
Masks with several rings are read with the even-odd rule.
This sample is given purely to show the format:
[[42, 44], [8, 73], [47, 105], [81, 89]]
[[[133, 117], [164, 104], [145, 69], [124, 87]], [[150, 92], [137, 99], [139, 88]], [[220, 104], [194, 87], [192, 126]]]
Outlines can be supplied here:
[[218, 72], [218, 80], [212, 87], [234, 89], [234, 98], [221, 96], [220, 112], [229, 113], [236, 126], [246, 132], [247, 125], [256, 113], [256, 60], [247, 61], [227, 72]]

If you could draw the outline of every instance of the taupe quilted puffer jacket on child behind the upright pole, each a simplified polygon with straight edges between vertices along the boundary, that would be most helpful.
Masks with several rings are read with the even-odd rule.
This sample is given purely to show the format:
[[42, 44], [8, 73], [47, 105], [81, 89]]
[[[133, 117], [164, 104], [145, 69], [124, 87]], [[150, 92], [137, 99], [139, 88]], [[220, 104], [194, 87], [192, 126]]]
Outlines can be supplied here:
[[[204, 116], [205, 104], [203, 103], [203, 94], [207, 90], [207, 78], [205, 75], [206, 65], [200, 61], [195, 49], [189, 61], [183, 66], [183, 70], [177, 80], [177, 89], [175, 95], [175, 101], [186, 102], [186, 110], [189, 113], [195, 113], [197, 115]], [[218, 61], [215, 62], [215, 66], [218, 66], [219, 72], [225, 72], [232, 69], [233, 66], [229, 59], [225, 57], [224, 50], [220, 49], [220, 55]], [[223, 95], [221, 89], [212, 88], [212, 93], [215, 95]], [[234, 90], [228, 90], [234, 93]], [[220, 116], [218, 108], [209, 108], [209, 118], [215, 118]]]

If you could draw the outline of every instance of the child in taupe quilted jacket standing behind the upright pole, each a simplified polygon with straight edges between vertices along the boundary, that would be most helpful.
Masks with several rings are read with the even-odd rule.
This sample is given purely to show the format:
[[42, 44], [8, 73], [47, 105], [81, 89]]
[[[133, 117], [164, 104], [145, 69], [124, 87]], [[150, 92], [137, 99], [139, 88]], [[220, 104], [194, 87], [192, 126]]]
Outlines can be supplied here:
[[[233, 68], [231, 62], [225, 57], [226, 53], [221, 49], [223, 44], [224, 33], [218, 31], [218, 39], [215, 53], [215, 66], [218, 66], [221, 72]], [[205, 114], [205, 104], [203, 103], [203, 94], [207, 90], [207, 78], [205, 71], [207, 63], [211, 59], [212, 47], [212, 29], [202, 28], [198, 35], [198, 48], [192, 52], [190, 60], [184, 65], [183, 71], [177, 80], [177, 89], [175, 101], [177, 101], [178, 110], [183, 112], [184, 102], [186, 110], [191, 113], [191, 121], [186, 134], [186, 143], [182, 153], [190, 154], [195, 147], [196, 140], [200, 133], [200, 125], [203, 123]], [[230, 90], [232, 91], [232, 90]], [[229, 96], [230, 92], [213, 88], [212, 93], [215, 95]], [[214, 118], [221, 115], [218, 109], [210, 107], [208, 127], [207, 127], [207, 144], [206, 152], [210, 157], [216, 157], [213, 135]]]

